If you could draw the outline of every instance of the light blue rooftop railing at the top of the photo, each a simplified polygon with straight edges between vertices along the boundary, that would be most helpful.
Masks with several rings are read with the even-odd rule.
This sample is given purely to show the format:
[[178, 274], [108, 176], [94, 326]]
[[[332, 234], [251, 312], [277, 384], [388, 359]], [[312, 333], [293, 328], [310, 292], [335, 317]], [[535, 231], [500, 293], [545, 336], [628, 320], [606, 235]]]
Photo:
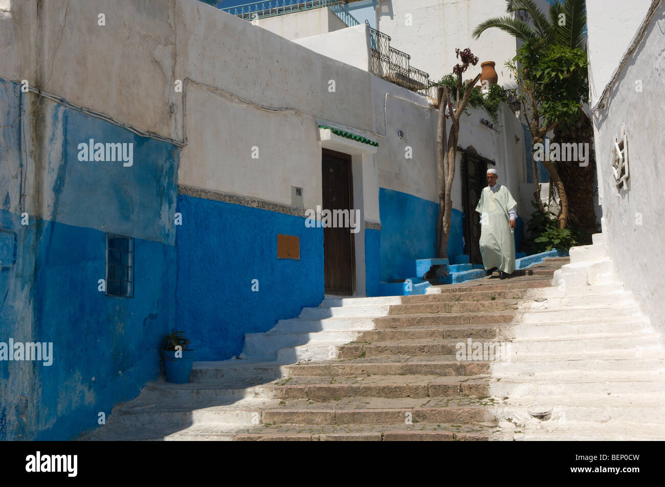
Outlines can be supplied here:
[[245, 3], [237, 7], [226, 7], [221, 9], [225, 12], [251, 21], [253, 19], [263, 19], [263, 17], [275, 17], [277, 15], [284, 15], [291, 12], [299, 12], [303, 10], [320, 9], [327, 7], [331, 9], [337, 17], [340, 18], [348, 27], [360, 25], [360, 22], [353, 17], [344, 6], [337, 0], [274, 0], [274, 1], [259, 1], [253, 3]]

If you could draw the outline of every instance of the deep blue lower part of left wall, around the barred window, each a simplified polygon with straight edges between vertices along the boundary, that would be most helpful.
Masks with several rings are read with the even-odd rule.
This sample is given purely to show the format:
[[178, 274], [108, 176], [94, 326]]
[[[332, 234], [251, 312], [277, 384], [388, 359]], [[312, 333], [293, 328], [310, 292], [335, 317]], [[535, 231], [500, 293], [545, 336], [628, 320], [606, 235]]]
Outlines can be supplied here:
[[[35, 439], [69, 438], [97, 426], [116, 403], [160, 374], [162, 337], [174, 321], [176, 250], [134, 241], [134, 298], [97, 290], [106, 233], [39, 221], [37, 341], [53, 341], [53, 365], [35, 367]], [[72, 252], [72, 249], [76, 249]]]

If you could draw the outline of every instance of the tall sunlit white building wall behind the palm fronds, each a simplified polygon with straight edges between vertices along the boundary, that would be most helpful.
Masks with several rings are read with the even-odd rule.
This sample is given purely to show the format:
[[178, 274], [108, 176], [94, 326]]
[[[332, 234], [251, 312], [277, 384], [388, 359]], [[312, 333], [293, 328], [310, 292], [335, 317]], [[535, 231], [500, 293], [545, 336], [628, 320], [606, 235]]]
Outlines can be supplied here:
[[410, 54], [411, 65], [428, 72], [430, 79], [451, 73], [460, 62], [455, 49], [470, 47], [479, 60], [465, 76], [473, 78], [481, 62], [494, 61], [499, 84], [507, 82], [503, 63], [515, 56], [515, 38], [489, 29], [477, 41], [471, 39], [479, 23], [505, 15], [504, 0], [380, 0], [377, 15], [378, 29], [390, 35], [390, 45]]

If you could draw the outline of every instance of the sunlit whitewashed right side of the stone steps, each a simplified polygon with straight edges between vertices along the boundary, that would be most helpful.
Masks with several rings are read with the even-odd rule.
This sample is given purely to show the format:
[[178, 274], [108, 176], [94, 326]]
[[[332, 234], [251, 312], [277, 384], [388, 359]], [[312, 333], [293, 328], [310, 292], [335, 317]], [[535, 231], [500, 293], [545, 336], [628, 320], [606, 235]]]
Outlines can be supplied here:
[[[604, 235], [571, 248], [545, 299], [513, 326], [510, 363], [492, 364], [504, 435], [526, 440], [662, 440], [662, 337], [612, 271]], [[542, 421], [528, 407], [551, 411]]]

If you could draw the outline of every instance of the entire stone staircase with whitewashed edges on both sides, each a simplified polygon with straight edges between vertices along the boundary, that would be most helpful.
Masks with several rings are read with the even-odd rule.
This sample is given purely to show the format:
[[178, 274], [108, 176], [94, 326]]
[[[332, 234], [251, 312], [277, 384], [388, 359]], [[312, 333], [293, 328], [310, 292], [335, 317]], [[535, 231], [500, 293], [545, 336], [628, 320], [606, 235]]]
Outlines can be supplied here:
[[[604, 258], [595, 243], [508, 280], [326, 298], [247, 335], [241, 359], [195, 363], [188, 384], [146, 385], [83, 438], [665, 437], [660, 343]], [[471, 343], [509, 345], [501, 361], [471, 349], [460, 359]], [[551, 410], [547, 421], [533, 406]]]

